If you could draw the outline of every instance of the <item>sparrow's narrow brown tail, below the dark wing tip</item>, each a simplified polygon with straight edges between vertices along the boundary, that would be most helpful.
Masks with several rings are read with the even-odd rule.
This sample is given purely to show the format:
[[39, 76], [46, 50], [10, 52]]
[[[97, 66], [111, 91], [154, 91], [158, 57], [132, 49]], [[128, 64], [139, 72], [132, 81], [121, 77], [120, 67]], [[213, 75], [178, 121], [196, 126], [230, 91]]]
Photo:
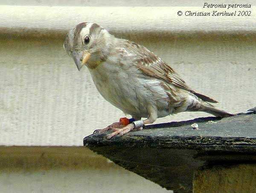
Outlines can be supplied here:
[[228, 117], [228, 116], [235, 116], [236, 114], [228, 113], [220, 108], [217, 108], [208, 102], [201, 102], [201, 109], [200, 111], [204, 111], [206, 113], [212, 114], [214, 116], [219, 117]]

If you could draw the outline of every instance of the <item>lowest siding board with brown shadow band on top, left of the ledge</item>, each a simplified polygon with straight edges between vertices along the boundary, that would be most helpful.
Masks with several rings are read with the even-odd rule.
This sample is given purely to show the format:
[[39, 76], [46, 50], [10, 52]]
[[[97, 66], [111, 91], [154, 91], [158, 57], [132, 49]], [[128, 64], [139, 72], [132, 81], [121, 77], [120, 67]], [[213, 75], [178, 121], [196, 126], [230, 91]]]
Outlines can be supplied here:
[[84, 147], [0, 147], [0, 193], [170, 193]]

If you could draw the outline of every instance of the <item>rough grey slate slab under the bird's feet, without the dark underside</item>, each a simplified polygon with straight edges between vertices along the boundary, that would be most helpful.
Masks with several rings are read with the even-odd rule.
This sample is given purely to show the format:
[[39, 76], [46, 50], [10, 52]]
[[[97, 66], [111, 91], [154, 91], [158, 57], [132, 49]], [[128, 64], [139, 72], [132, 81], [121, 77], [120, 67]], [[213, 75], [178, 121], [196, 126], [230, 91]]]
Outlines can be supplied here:
[[[137, 148], [180, 148], [193, 150], [255, 152], [256, 115], [252, 113], [232, 116], [197, 118], [183, 122], [171, 122], [146, 126], [143, 131], [133, 131], [122, 137], [105, 139], [105, 134], [84, 138], [84, 145], [99, 147], [121, 145]], [[194, 130], [191, 123], [198, 123]], [[157, 128], [154, 128], [157, 127]], [[165, 128], [168, 127], [168, 128]]]

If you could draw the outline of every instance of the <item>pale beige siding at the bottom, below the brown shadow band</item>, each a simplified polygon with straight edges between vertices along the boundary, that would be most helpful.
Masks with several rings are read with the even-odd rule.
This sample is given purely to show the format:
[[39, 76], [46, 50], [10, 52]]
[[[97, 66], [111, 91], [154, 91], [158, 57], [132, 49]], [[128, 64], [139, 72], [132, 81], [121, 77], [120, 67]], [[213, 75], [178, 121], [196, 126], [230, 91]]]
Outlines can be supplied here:
[[0, 173], [1, 193], [169, 193], [119, 167], [111, 170], [20, 170]]

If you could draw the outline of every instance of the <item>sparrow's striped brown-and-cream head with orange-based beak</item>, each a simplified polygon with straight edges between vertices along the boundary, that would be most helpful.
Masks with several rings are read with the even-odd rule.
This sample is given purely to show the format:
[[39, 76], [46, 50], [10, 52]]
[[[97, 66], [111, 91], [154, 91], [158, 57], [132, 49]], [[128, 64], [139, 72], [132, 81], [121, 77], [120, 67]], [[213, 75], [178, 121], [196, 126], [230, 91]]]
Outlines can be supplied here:
[[80, 23], [68, 32], [63, 47], [73, 58], [79, 71], [83, 65], [95, 68], [104, 61], [111, 44], [107, 40], [111, 40], [111, 36], [96, 23]]

